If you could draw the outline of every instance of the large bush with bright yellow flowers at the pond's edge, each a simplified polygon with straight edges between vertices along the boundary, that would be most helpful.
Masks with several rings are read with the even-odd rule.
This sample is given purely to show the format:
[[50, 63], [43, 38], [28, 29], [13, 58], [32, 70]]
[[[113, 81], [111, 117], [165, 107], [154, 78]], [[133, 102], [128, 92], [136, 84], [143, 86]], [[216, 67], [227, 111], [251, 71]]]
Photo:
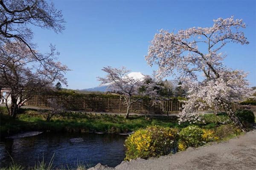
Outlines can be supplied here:
[[169, 127], [151, 126], [139, 129], [125, 140], [125, 160], [148, 159], [175, 151], [177, 130]]

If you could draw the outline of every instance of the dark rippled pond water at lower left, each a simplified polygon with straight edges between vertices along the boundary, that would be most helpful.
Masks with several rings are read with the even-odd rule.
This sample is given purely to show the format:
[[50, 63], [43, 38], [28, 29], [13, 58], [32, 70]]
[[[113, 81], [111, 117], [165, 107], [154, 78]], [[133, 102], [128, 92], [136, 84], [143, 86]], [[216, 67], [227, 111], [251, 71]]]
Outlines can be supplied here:
[[55, 153], [55, 167], [76, 167], [77, 164], [91, 167], [99, 162], [115, 167], [125, 157], [123, 144], [126, 137], [94, 133], [42, 133], [23, 139], [5, 139], [0, 142], [0, 166], [8, 165], [12, 161], [10, 156], [15, 163], [26, 167], [34, 166], [43, 157], [48, 163]]

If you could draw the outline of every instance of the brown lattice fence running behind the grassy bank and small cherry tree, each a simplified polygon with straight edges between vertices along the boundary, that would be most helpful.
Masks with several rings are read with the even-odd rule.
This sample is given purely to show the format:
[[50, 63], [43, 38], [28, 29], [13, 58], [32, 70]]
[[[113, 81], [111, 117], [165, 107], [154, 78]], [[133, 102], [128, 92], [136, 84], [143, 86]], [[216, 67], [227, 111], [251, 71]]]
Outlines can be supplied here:
[[[125, 112], [126, 105], [123, 97], [90, 97], [90, 96], [34, 96], [27, 105], [49, 107], [47, 99], [55, 99], [58, 104], [63, 105], [67, 110], [83, 110], [83, 111], [112, 111]], [[131, 112], [143, 113], [163, 113], [163, 112], [179, 112], [182, 110], [182, 102], [177, 99], [154, 102], [153, 100], [140, 100], [131, 105]], [[232, 105], [232, 110], [241, 109], [241, 105]], [[256, 110], [256, 106], [254, 108]], [[207, 110], [214, 110], [214, 107], [207, 106]]]

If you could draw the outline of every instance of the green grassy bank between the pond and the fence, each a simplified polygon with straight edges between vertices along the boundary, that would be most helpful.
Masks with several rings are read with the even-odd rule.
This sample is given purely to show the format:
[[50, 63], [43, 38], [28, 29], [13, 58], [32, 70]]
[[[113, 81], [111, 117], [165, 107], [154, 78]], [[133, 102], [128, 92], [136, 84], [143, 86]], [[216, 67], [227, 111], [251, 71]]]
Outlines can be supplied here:
[[[94, 115], [81, 113], [63, 113], [53, 116], [51, 121], [46, 121], [44, 111], [32, 109], [21, 109], [17, 119], [9, 119], [6, 108], [0, 108], [0, 133], [1, 136], [31, 130], [50, 130], [67, 132], [104, 132], [104, 133], [127, 133], [139, 128], [150, 125], [160, 125], [163, 127], [176, 127], [181, 129], [189, 123], [178, 124], [175, 117], [151, 117], [130, 116], [125, 119], [124, 116]], [[221, 123], [229, 123], [228, 116], [220, 114], [204, 115], [206, 123], [197, 125], [210, 129]]]

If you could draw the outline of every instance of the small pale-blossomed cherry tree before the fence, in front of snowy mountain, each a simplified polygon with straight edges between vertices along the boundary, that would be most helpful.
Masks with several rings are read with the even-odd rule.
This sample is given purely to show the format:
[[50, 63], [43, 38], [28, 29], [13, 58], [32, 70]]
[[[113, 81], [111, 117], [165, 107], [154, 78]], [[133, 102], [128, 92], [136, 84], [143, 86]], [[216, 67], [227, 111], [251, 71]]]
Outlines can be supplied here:
[[[128, 76], [130, 72], [125, 67], [112, 68], [111, 66], [104, 67], [107, 75], [105, 77], [98, 77], [102, 85], [108, 85], [108, 90], [121, 94], [125, 99], [127, 119], [130, 113], [131, 105], [138, 102], [143, 96], [158, 95], [156, 80], [150, 76], [141, 78], [134, 78]], [[149, 81], [150, 80], [150, 81]], [[134, 98], [134, 96], [137, 96]]]

